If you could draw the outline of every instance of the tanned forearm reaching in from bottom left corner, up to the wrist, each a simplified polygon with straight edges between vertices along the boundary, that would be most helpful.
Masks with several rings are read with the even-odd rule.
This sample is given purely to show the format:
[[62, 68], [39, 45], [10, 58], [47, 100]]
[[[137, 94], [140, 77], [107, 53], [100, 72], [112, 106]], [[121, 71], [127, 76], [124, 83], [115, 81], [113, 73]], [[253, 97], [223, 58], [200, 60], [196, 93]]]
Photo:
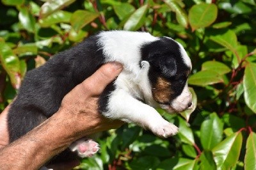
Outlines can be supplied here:
[[38, 169], [79, 136], [69, 114], [57, 112], [41, 125], [0, 150], [1, 169]]

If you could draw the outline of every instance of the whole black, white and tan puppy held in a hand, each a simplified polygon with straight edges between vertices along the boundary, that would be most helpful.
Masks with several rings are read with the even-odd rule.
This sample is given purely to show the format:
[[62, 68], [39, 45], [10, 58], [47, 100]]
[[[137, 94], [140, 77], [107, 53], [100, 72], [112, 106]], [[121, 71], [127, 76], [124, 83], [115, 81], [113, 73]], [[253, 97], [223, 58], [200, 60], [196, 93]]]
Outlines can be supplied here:
[[[149, 33], [106, 31], [56, 54], [29, 71], [8, 112], [10, 141], [29, 132], [58, 111], [63, 97], [101, 65], [118, 61], [124, 70], [104, 90], [99, 111], [111, 119], [136, 123], [160, 137], [178, 132], [154, 109], [181, 112], [191, 106], [188, 76], [191, 61], [180, 43]], [[83, 146], [91, 148], [83, 150]], [[80, 157], [99, 149], [93, 141], [70, 146]]]

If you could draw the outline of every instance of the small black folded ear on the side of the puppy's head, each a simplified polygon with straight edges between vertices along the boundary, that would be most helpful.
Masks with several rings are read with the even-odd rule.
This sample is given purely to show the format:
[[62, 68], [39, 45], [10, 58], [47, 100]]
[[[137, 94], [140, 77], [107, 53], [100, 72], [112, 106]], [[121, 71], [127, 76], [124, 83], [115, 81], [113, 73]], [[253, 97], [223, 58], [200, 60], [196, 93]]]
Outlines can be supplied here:
[[177, 63], [172, 56], [155, 56], [152, 65], [156, 66], [163, 76], [167, 78], [173, 77], [177, 72]]

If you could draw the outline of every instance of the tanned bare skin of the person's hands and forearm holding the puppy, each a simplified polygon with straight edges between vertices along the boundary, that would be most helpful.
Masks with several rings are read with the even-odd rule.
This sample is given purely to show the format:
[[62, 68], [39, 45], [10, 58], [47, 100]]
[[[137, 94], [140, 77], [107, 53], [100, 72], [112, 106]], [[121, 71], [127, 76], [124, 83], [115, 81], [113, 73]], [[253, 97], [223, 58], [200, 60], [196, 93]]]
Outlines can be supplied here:
[[124, 122], [98, 112], [97, 101], [121, 71], [120, 63], [101, 66], [63, 98], [58, 112], [9, 145], [5, 110], [0, 117], [1, 169], [38, 169], [77, 139], [120, 127]]

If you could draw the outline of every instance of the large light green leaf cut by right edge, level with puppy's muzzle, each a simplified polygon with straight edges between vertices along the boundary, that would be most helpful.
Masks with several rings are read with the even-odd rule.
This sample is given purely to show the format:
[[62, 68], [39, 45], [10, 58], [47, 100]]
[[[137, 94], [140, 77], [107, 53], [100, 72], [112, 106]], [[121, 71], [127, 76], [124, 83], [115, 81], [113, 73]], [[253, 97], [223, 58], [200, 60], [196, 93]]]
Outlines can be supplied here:
[[243, 84], [245, 103], [256, 113], [256, 63], [248, 63], [246, 65]]

